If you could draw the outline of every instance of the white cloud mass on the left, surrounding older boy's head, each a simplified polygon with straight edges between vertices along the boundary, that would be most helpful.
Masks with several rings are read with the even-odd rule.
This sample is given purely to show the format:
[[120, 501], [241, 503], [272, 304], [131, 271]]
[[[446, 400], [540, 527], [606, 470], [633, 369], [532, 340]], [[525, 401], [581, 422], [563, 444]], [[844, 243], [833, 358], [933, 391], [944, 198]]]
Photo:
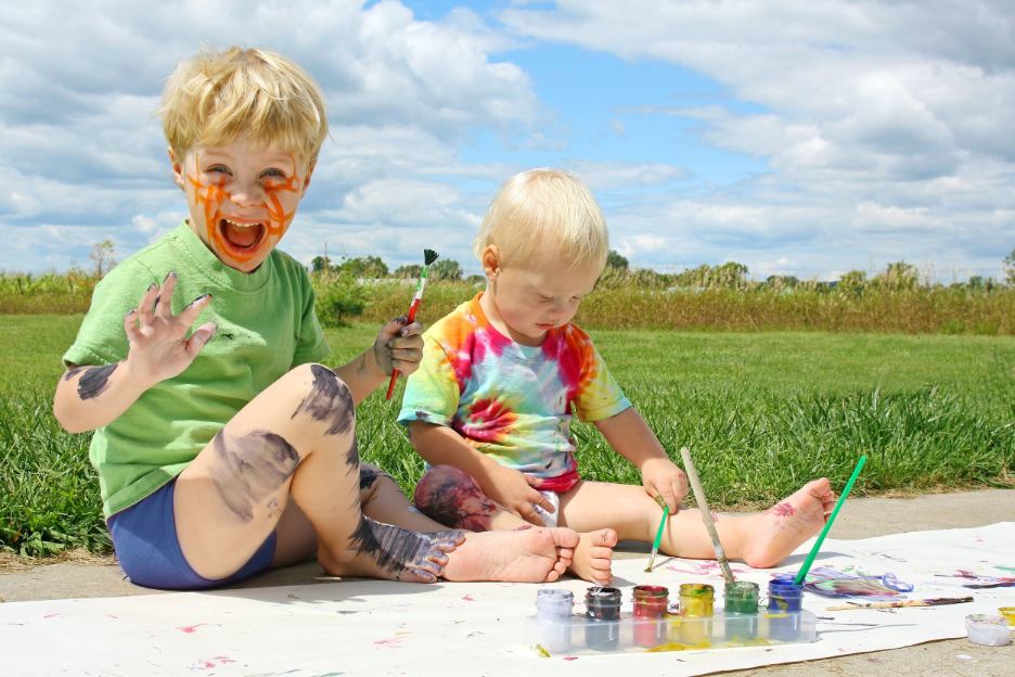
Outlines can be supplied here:
[[[201, 46], [233, 43], [291, 56], [325, 91], [332, 139], [300, 214], [307, 232], [286, 238], [306, 260], [323, 232], [338, 241], [346, 230], [350, 255], [414, 259], [402, 242], [425, 238], [407, 229], [461, 227], [484, 206], [435, 213], [435, 201], [464, 193], [427, 177], [501, 180], [506, 167], [464, 166], [455, 144], [477, 127], [524, 138], [539, 114], [526, 73], [490, 59], [510, 42], [468, 10], [434, 23], [398, 2], [12, 4], [0, 24], [0, 229], [17, 245], [0, 251], [0, 270], [63, 269], [107, 238], [129, 253], [165, 230], [166, 215], [178, 222], [154, 117], [162, 85]], [[422, 188], [407, 200], [406, 186]], [[361, 225], [386, 234], [356, 235]]]

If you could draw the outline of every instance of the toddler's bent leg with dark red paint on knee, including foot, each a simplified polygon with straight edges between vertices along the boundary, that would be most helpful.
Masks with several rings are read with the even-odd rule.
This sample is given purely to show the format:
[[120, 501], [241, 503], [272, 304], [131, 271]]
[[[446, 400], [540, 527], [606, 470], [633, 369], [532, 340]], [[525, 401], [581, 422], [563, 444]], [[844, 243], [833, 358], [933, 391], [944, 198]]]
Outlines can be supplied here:
[[[490, 500], [471, 476], [450, 465], [437, 465], [423, 475], [416, 484], [415, 504], [434, 520], [458, 528], [493, 534], [540, 528]], [[568, 570], [586, 580], [608, 584], [616, 532], [596, 528], [577, 536]]]

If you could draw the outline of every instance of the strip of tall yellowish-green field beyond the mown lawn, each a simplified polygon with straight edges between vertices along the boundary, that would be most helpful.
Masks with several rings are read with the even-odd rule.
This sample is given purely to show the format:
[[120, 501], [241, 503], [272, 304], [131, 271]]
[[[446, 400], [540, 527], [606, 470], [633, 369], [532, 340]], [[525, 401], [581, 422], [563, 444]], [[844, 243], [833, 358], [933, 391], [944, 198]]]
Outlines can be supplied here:
[[[351, 309], [343, 320], [381, 322], [406, 311], [412, 280], [314, 278], [319, 299]], [[0, 273], [0, 315], [82, 314], [94, 278]], [[441, 317], [480, 289], [467, 281], [431, 281], [424, 321]], [[319, 306], [319, 312], [326, 315]], [[361, 314], [357, 317], [358, 314]], [[1015, 335], [1015, 286], [969, 285], [836, 288], [799, 284], [659, 288], [637, 274], [605, 276], [576, 321], [589, 329], [714, 331], [827, 331]]]

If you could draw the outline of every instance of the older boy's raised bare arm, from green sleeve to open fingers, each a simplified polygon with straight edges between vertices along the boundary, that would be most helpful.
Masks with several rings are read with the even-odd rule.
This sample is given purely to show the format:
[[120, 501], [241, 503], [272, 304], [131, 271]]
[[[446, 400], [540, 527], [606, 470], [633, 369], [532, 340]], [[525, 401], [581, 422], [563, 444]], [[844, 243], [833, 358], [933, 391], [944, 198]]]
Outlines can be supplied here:
[[[207, 322], [187, 337], [211, 297], [198, 296], [174, 317], [169, 298], [175, 286], [172, 274], [162, 290], [152, 284], [140, 306], [124, 318], [129, 345], [126, 359], [72, 367], [61, 376], [53, 397], [53, 416], [68, 433], [82, 433], [116, 420], [146, 389], [187, 369], [215, 333], [215, 323]], [[156, 306], [160, 295], [165, 301]]]

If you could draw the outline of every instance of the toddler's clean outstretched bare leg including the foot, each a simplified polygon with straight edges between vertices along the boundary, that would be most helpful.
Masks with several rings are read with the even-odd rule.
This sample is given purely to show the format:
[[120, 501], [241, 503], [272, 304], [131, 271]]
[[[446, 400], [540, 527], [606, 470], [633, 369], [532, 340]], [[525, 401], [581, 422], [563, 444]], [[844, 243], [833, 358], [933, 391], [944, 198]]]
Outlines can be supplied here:
[[[797, 546], [818, 533], [832, 510], [835, 496], [826, 478], [814, 480], [762, 513], [719, 514], [716, 528], [730, 559], [750, 566], [778, 565]], [[609, 524], [620, 538], [655, 538], [659, 507], [640, 486], [582, 482], [561, 498], [566, 524], [577, 531]], [[659, 548], [667, 554], [710, 560], [715, 550], [702, 514], [696, 509], [671, 515]]]

